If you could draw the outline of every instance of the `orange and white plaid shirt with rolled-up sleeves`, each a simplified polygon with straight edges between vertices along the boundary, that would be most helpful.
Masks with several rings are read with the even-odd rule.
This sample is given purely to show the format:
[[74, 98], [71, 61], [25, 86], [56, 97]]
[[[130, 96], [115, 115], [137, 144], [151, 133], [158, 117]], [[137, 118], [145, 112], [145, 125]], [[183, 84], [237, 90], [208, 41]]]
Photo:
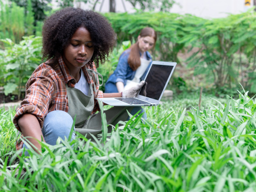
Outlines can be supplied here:
[[[88, 64], [82, 67], [82, 72], [85, 74], [87, 82], [92, 84], [93, 87], [94, 109], [91, 114], [94, 114], [97, 110], [100, 110], [96, 98], [103, 97], [103, 92], [99, 91], [98, 77], [96, 76], [98, 83], [95, 84], [93, 79], [87, 73], [86, 68], [93, 71], [97, 70], [94, 63], [92, 68]], [[17, 121], [23, 114], [34, 114], [42, 128], [44, 118], [49, 112], [54, 110], [68, 112], [69, 103], [66, 84], [69, 87], [75, 87], [76, 80], [71, 75], [62, 57], [58, 59], [58, 64], [53, 64], [50, 60], [40, 64], [27, 81], [25, 99], [21, 102], [21, 106], [17, 109], [13, 119], [14, 125], [18, 131], [21, 130]], [[17, 149], [21, 147], [22, 146], [16, 145]]]

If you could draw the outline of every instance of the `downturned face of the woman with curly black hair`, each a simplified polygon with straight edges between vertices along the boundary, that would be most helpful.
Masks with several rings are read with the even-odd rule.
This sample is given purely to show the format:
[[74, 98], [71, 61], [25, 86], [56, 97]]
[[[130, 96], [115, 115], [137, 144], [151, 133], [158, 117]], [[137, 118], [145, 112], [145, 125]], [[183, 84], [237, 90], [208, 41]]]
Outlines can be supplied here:
[[63, 59], [69, 70], [80, 70], [85, 66], [93, 55], [94, 46], [90, 32], [85, 27], [79, 27], [71, 37], [64, 49]]

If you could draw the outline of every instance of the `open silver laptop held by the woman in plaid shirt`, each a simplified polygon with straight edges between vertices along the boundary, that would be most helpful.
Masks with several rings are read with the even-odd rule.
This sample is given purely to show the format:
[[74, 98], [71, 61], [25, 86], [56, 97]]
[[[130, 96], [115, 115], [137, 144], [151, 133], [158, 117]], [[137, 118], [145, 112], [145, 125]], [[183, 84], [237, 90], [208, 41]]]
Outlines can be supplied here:
[[156, 106], [164, 94], [176, 64], [174, 62], [153, 61], [144, 79], [146, 85], [142, 87], [136, 97], [97, 99], [112, 106]]

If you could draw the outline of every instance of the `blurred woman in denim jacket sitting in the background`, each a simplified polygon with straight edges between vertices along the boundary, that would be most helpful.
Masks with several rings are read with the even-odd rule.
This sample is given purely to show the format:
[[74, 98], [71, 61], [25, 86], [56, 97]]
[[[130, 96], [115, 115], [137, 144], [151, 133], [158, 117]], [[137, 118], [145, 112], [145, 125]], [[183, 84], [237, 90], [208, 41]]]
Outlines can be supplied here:
[[120, 55], [117, 68], [105, 84], [105, 93], [125, 91], [144, 80], [152, 63], [148, 50], [155, 46], [156, 39], [153, 28], [142, 29], [138, 41]]

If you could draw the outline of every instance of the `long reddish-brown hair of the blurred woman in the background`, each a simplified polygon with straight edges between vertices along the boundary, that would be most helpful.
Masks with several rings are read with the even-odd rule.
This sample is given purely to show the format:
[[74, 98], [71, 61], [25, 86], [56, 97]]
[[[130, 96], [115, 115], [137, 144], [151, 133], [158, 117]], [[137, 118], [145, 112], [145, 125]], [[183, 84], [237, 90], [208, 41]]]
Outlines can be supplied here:
[[[157, 39], [156, 32], [151, 27], [145, 27], [144, 29], [142, 29], [140, 36], [141, 37], [147, 37], [147, 36], [153, 37], [155, 39], [155, 42]], [[141, 66], [139, 42], [137, 41], [136, 43], [134, 43], [130, 47], [130, 49], [131, 49], [131, 52], [128, 57], [128, 64], [129, 64], [130, 68], [133, 69], [133, 71], [135, 71], [138, 69], [139, 66]]]

